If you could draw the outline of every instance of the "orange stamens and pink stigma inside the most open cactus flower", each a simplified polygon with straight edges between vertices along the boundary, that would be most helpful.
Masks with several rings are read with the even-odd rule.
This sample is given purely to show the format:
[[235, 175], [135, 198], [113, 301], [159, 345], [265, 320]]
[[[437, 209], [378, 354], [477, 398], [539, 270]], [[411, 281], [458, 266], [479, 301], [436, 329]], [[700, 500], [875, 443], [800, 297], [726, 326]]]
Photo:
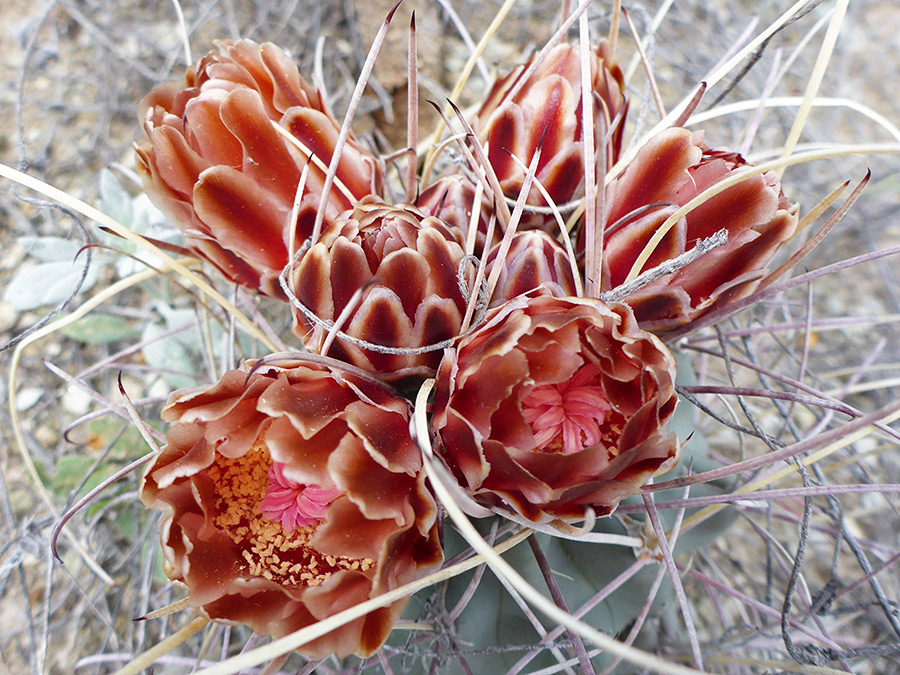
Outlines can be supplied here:
[[325, 555], [312, 545], [328, 505], [342, 492], [284, 476], [265, 443], [234, 459], [216, 453], [207, 469], [216, 497], [215, 527], [237, 548], [241, 572], [282, 586], [318, 586], [341, 569], [366, 571], [369, 559]]

